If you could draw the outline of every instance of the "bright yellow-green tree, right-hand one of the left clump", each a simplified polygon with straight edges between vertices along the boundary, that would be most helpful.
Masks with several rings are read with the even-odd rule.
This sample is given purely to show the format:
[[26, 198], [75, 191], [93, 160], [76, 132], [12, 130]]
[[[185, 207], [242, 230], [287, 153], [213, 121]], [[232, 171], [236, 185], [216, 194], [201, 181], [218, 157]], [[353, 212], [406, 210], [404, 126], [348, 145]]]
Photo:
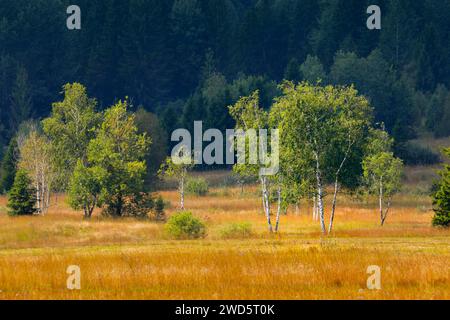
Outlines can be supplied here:
[[87, 152], [89, 165], [102, 173], [100, 200], [106, 205], [105, 212], [116, 217], [126, 215], [126, 198], [142, 192], [148, 145], [146, 135], [138, 134], [134, 116], [127, 112], [127, 101], [106, 110]]

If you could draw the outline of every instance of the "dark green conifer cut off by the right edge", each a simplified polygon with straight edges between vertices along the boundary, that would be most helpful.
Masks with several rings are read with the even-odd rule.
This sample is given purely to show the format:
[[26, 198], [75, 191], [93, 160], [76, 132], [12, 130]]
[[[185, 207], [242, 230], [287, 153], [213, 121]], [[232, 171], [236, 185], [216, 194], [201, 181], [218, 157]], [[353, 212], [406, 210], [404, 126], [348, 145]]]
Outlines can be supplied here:
[[[450, 156], [450, 148], [445, 150]], [[445, 165], [440, 173], [441, 180], [437, 185], [437, 191], [433, 194], [433, 205], [435, 215], [433, 217], [434, 226], [450, 226], [450, 165]]]

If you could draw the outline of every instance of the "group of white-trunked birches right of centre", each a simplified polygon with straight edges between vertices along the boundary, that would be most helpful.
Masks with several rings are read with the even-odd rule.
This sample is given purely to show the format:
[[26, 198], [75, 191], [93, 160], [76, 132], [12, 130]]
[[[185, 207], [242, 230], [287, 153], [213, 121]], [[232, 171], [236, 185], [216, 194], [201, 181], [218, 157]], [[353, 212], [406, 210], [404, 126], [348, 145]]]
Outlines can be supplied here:
[[[306, 198], [314, 202], [313, 218], [320, 222], [322, 232], [331, 233], [339, 192], [342, 188], [356, 190], [361, 186], [363, 174], [371, 179], [370, 187], [377, 186], [380, 192], [384, 223], [390, 199], [399, 188], [402, 164], [390, 150], [393, 140], [389, 135], [373, 128], [373, 109], [368, 100], [352, 86], [307, 82], [296, 85], [286, 81], [280, 89], [282, 95], [275, 99], [270, 111], [261, 108], [258, 91], [229, 108], [236, 129], [279, 130], [280, 170], [275, 175], [259, 175], [262, 163], [246, 161], [234, 166], [242, 176], [259, 175], [269, 231], [278, 231], [280, 213], [289, 204], [298, 207], [300, 199]], [[380, 141], [382, 138], [388, 142]], [[377, 149], [376, 145], [382, 143], [387, 146]], [[251, 148], [250, 141], [246, 142], [246, 148]], [[271, 150], [267, 152], [270, 154]], [[324, 198], [328, 184], [333, 189], [327, 227]], [[271, 197], [272, 193], [276, 196]], [[382, 205], [385, 198], [386, 210]], [[275, 227], [271, 220], [273, 199], [277, 202]]]

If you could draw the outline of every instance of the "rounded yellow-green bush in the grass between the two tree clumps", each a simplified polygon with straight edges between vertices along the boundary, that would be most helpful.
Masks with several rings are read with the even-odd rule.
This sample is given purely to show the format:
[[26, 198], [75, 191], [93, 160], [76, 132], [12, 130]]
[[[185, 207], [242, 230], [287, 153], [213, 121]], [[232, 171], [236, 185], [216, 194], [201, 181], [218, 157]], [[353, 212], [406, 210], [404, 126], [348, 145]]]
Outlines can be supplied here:
[[171, 216], [165, 228], [167, 234], [175, 239], [198, 239], [206, 235], [205, 224], [189, 211]]

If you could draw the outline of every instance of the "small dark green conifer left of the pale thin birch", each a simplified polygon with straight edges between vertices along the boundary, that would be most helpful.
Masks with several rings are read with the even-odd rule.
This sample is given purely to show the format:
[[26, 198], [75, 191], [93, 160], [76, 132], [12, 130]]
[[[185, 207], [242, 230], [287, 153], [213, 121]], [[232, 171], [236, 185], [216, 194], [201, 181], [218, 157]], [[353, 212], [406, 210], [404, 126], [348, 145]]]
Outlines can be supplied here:
[[25, 170], [18, 170], [14, 184], [8, 194], [8, 214], [11, 216], [32, 215], [36, 212], [36, 190]]

